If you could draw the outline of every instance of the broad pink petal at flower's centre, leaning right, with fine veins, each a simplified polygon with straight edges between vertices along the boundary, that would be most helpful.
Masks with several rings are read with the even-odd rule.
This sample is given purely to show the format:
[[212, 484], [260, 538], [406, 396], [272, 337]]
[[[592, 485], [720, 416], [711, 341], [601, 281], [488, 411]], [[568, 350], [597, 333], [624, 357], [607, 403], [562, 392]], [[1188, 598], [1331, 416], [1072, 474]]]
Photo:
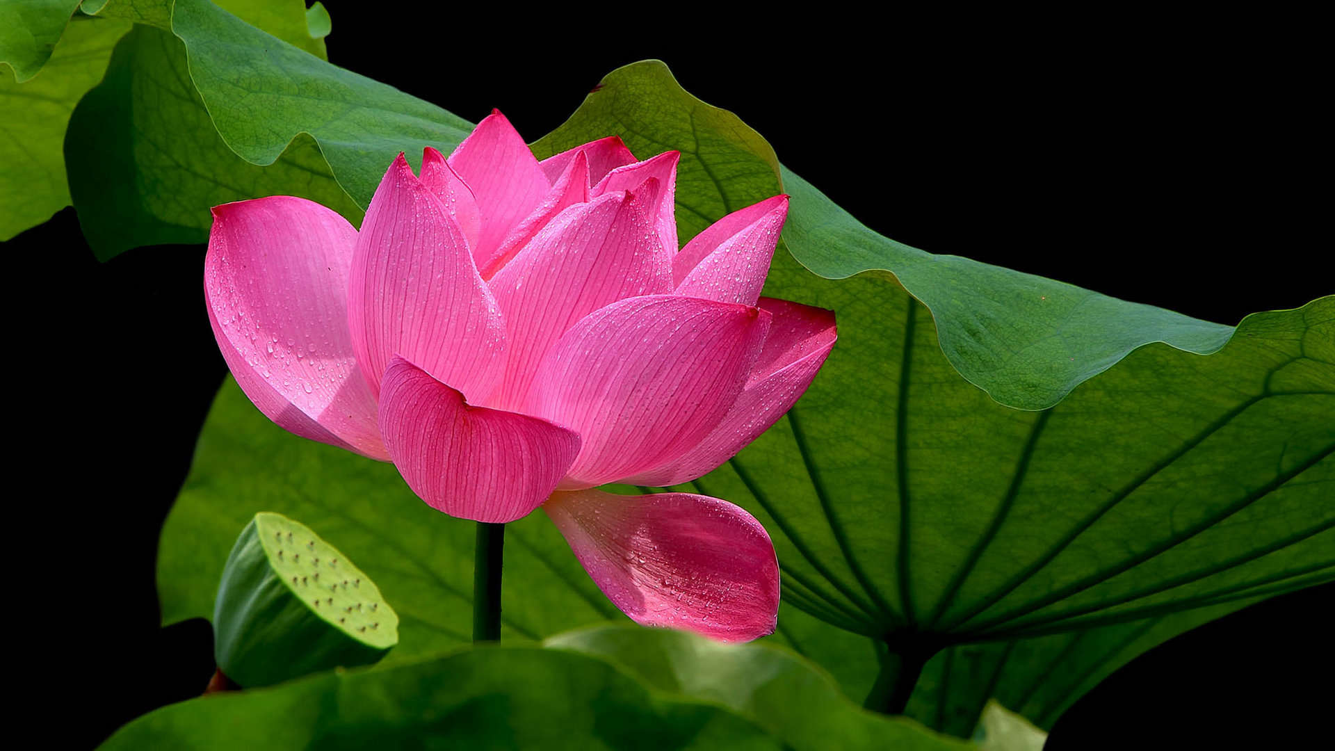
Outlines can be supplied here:
[[[579, 155], [574, 163], [582, 160]], [[505, 314], [509, 361], [489, 404], [518, 409], [543, 355], [589, 313], [627, 297], [672, 291], [672, 257], [658, 243], [645, 192], [657, 191], [610, 192], [567, 208], [491, 279]]]

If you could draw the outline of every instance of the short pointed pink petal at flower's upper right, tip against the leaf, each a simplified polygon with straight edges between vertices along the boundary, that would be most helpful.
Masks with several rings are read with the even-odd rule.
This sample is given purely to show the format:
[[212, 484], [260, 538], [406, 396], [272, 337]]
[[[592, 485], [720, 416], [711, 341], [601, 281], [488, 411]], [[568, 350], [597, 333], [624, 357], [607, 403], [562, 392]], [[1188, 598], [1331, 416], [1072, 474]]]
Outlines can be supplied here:
[[[756, 207], [762, 207], [764, 212], [754, 211]], [[754, 219], [745, 224], [741, 219], [729, 222], [742, 212], [744, 218], [754, 216]], [[677, 294], [756, 305], [760, 289], [765, 286], [769, 262], [774, 257], [774, 243], [778, 242], [786, 216], [788, 196], [776, 195], [724, 216], [692, 238], [673, 261]], [[718, 224], [724, 224], [722, 231], [709, 231]], [[741, 227], [730, 237], [718, 237], [737, 224]], [[716, 239], [720, 242], [714, 242]], [[713, 247], [709, 247], [710, 245]]]

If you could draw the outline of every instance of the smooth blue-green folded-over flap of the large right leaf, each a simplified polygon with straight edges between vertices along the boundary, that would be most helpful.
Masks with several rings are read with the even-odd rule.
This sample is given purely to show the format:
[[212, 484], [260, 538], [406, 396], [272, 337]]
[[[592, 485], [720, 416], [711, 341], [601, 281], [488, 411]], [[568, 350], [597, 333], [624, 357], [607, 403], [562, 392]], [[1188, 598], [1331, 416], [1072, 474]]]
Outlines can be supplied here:
[[897, 243], [792, 171], [782, 176], [793, 196], [784, 227], [793, 257], [832, 279], [868, 270], [894, 274], [930, 311], [955, 369], [1004, 405], [1049, 408], [1148, 343], [1211, 354], [1234, 334], [1232, 326]]

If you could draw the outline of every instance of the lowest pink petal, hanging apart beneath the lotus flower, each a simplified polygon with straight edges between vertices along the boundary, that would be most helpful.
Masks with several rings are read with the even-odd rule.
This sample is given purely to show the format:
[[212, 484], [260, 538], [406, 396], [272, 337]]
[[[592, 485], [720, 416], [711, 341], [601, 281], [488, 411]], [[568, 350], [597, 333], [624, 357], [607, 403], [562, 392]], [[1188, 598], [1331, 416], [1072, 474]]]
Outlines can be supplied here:
[[692, 493], [553, 493], [542, 509], [621, 612], [725, 641], [774, 632], [778, 560], [741, 508]]

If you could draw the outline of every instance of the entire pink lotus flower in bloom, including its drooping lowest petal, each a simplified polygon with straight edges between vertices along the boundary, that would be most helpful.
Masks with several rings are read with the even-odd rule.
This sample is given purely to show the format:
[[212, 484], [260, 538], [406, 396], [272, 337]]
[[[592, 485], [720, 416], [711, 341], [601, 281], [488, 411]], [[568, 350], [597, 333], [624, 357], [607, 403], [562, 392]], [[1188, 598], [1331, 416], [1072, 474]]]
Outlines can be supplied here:
[[287, 430], [388, 460], [433, 508], [542, 506], [633, 620], [773, 632], [778, 564], [750, 514], [692, 493], [797, 401], [834, 318], [760, 298], [778, 195], [680, 251], [678, 152], [617, 138], [543, 162], [499, 114], [415, 176], [400, 154], [360, 231], [292, 196], [214, 208], [204, 291], [236, 382]]

